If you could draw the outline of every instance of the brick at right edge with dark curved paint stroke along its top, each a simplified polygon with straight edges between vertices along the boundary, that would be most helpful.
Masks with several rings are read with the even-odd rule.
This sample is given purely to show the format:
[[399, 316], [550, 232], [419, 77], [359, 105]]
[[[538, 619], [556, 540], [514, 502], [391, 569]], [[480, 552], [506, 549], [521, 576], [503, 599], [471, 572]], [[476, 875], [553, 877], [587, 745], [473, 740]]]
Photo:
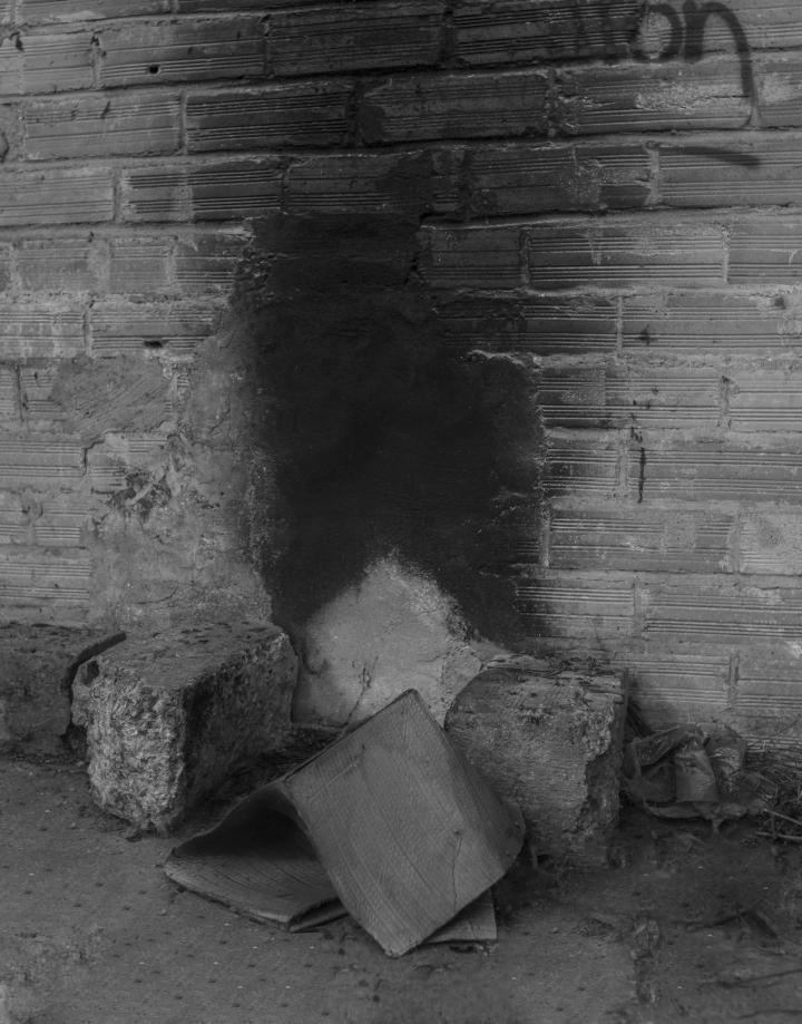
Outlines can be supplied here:
[[802, 139], [750, 135], [714, 145], [659, 147], [659, 197], [667, 206], [764, 206], [802, 199]]

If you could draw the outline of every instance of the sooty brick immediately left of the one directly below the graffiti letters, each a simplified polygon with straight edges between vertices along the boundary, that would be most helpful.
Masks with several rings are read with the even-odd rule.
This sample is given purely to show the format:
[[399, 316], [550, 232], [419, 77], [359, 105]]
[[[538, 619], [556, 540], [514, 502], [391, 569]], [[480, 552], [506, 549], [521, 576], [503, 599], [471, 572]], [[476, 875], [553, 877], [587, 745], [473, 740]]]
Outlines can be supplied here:
[[548, 79], [541, 71], [421, 75], [365, 88], [365, 142], [546, 135]]

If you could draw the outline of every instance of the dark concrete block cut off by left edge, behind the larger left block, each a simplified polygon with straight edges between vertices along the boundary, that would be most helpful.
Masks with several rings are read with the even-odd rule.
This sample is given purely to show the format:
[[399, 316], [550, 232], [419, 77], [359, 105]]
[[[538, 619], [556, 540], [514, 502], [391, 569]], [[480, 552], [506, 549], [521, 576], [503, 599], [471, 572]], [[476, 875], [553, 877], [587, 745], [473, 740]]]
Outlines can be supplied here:
[[0, 750], [61, 751], [78, 664], [119, 638], [41, 623], [0, 626]]

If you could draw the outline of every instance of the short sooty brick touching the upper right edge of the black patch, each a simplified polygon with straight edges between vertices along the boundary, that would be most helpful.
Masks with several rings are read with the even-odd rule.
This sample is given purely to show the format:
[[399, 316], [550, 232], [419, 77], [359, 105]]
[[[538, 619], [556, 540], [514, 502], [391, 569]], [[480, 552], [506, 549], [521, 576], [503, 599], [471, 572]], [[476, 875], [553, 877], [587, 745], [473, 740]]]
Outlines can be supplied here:
[[518, 287], [524, 283], [521, 231], [505, 227], [423, 227], [420, 272], [434, 287]]

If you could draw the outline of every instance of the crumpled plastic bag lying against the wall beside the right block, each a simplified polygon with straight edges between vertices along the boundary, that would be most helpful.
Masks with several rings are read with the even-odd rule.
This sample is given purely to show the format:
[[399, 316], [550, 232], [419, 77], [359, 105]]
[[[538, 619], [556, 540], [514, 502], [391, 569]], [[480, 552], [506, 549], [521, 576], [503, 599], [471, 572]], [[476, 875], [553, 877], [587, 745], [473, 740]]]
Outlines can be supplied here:
[[622, 789], [658, 818], [714, 825], [765, 811], [771, 784], [744, 767], [746, 741], [734, 730], [676, 725], [637, 737], [624, 750]]

